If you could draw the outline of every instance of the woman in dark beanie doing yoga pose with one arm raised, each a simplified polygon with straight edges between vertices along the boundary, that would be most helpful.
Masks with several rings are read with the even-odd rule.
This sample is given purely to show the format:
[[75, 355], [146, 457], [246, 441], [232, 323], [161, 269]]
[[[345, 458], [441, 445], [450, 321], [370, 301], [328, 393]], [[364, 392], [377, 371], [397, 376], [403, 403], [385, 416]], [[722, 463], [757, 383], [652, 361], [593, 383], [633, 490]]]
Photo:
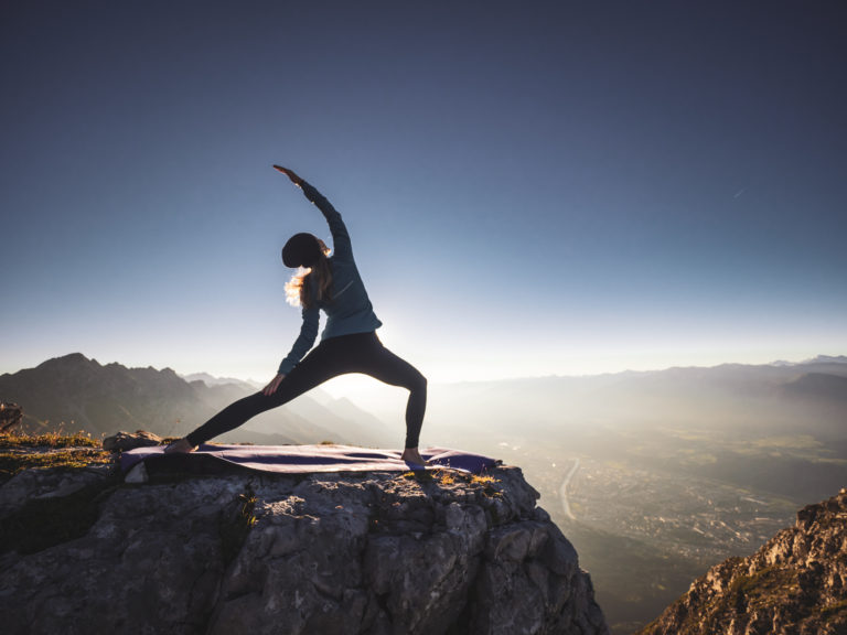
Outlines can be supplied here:
[[[184, 439], [174, 441], [165, 452], [192, 452], [201, 443], [237, 428], [259, 412], [287, 403], [345, 373], [364, 373], [385, 384], [409, 390], [406, 405], [406, 444], [401, 459], [424, 465], [418, 452], [418, 437], [427, 407], [427, 379], [411, 364], [383, 346], [376, 336], [382, 322], [374, 314], [365, 286], [353, 260], [347, 228], [326, 198], [300, 179], [292, 170], [274, 165], [323, 213], [332, 233], [335, 252], [311, 234], [292, 236], [282, 248], [287, 267], [305, 268], [286, 286], [289, 297], [302, 306], [303, 323], [291, 352], [279, 365], [277, 376], [264, 390], [224, 408]], [[320, 311], [326, 313], [326, 326], [320, 344], [312, 349], [318, 336]], [[309, 353], [307, 355], [307, 353]]]

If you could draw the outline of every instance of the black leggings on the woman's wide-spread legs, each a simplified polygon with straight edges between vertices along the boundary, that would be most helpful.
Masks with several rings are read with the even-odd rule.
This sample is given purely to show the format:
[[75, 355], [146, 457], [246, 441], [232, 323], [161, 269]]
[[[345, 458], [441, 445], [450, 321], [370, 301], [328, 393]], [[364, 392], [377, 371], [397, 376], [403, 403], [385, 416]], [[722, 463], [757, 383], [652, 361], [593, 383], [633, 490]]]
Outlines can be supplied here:
[[192, 445], [237, 428], [251, 417], [282, 406], [346, 373], [364, 373], [392, 386], [409, 390], [406, 403], [406, 448], [417, 448], [424, 412], [427, 409], [427, 379], [411, 364], [388, 351], [376, 333], [355, 333], [322, 341], [294, 366], [277, 391], [269, 397], [256, 392], [227, 406], [186, 437]]

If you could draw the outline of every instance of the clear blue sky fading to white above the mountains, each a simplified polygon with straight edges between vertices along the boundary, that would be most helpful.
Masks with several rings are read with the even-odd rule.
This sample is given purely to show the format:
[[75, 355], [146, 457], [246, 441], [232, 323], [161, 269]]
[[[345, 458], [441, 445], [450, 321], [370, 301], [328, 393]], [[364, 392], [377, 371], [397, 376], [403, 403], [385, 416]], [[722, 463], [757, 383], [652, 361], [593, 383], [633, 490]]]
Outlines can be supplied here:
[[847, 353], [847, 9], [0, 4], [0, 373], [269, 379], [343, 214], [431, 380]]

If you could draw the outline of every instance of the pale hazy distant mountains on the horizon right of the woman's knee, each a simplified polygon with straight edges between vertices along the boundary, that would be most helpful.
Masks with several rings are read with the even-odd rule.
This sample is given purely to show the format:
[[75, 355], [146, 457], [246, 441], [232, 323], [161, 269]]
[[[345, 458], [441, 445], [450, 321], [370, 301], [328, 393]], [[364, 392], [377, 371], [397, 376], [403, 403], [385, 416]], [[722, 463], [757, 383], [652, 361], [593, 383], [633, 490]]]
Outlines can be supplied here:
[[[433, 390], [435, 394], [435, 390]], [[451, 435], [570, 434], [613, 423], [630, 428], [697, 426], [710, 430], [796, 433], [847, 440], [847, 357], [796, 364], [678, 367], [593, 376], [461, 383], [438, 388], [428, 421], [463, 421]], [[459, 439], [462, 441], [462, 439]]]

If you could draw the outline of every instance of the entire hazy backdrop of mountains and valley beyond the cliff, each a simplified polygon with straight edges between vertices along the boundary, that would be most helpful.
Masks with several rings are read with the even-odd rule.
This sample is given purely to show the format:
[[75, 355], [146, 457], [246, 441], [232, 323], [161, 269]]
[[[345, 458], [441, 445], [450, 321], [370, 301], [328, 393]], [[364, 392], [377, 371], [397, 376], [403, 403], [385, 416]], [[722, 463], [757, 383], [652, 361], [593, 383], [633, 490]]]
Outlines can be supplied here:
[[[253, 389], [206, 381], [74, 355], [0, 376], [0, 398], [21, 402], [29, 426], [84, 417], [96, 435], [180, 434]], [[753, 552], [800, 507], [847, 485], [845, 357], [436, 385], [430, 395], [424, 444], [522, 466], [615, 633], [643, 626], [709, 566]], [[396, 446], [401, 399], [392, 392], [384, 410], [367, 408], [374, 416], [317, 391], [228, 439]]]

